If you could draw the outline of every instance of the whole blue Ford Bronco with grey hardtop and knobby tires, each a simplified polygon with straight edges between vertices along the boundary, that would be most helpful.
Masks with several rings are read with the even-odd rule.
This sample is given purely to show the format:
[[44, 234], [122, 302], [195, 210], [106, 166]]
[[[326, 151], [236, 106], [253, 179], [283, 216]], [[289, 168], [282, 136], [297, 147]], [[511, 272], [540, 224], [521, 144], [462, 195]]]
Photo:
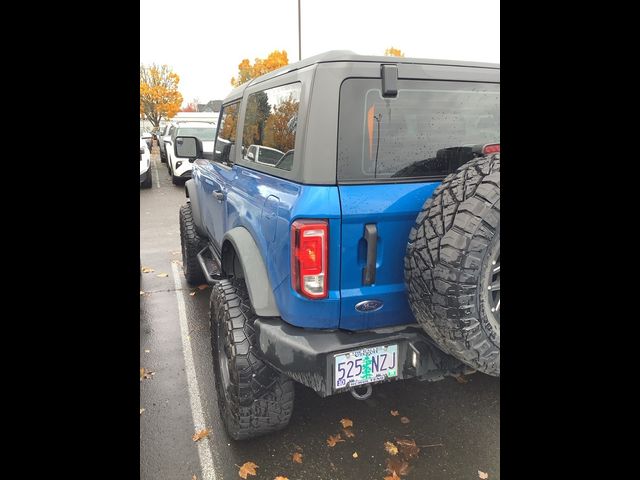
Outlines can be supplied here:
[[500, 375], [500, 67], [333, 51], [224, 100], [180, 208], [228, 434], [321, 396]]

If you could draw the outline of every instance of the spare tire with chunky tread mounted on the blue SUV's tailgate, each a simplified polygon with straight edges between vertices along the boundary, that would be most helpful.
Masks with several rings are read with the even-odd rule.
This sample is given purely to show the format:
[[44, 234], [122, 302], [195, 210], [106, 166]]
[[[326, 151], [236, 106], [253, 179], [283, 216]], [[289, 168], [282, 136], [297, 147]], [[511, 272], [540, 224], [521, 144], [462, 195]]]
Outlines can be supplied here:
[[500, 376], [500, 154], [466, 163], [436, 188], [409, 234], [404, 273], [427, 334]]

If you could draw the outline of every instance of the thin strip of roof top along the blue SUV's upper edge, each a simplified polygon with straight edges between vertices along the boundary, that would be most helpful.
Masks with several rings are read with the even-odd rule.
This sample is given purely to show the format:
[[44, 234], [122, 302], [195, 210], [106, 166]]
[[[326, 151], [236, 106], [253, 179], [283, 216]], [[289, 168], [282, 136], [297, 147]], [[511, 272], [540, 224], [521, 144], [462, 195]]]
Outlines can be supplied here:
[[290, 63], [277, 70], [266, 73], [260, 77], [256, 77], [243, 83], [239, 87], [234, 88], [227, 97], [240, 96], [244, 89], [250, 85], [264, 82], [270, 78], [277, 77], [287, 72], [299, 70], [309, 65], [315, 65], [318, 63], [331, 63], [331, 62], [373, 62], [373, 63], [413, 63], [420, 65], [444, 65], [452, 67], [472, 67], [472, 68], [492, 68], [500, 70], [499, 63], [485, 63], [485, 62], [473, 62], [473, 61], [461, 61], [461, 60], [436, 60], [428, 58], [412, 58], [412, 57], [391, 57], [384, 55], [358, 55], [351, 50], [330, 50], [328, 52], [320, 53], [312, 57], [305, 58], [299, 62]]

